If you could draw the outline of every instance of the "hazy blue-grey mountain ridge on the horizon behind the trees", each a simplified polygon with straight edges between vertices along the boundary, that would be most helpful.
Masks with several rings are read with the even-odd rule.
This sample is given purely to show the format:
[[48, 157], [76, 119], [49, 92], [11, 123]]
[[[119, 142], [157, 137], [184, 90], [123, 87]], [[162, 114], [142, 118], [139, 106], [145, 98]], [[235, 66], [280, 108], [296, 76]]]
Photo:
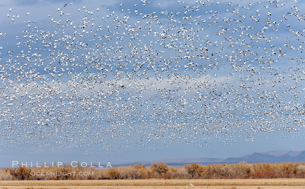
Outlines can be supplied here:
[[228, 157], [228, 158], [173, 158], [173, 159], [160, 159], [143, 162], [132, 162], [120, 165], [133, 165], [144, 164], [149, 165], [152, 162], [161, 161], [170, 165], [182, 165], [183, 163], [202, 163], [202, 164], [215, 164], [215, 163], [239, 163], [246, 161], [248, 163], [281, 163], [281, 162], [303, 162], [305, 161], [304, 151], [267, 151], [267, 152], [254, 152], [242, 157]]

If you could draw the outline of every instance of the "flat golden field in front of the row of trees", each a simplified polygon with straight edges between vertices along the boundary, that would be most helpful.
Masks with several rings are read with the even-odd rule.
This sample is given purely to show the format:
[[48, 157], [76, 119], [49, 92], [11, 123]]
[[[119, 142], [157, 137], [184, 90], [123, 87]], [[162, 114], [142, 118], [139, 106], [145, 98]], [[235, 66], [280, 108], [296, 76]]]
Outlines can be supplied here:
[[264, 186], [265, 183], [305, 186], [304, 179], [2, 180], [0, 186]]

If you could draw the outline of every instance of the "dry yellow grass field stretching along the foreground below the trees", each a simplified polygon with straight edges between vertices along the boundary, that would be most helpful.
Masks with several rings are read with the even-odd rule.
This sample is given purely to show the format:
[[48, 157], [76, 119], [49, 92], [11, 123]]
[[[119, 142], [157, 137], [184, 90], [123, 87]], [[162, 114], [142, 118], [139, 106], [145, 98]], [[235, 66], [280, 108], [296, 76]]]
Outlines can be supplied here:
[[[266, 184], [267, 183], [267, 186]], [[192, 184], [195, 187], [192, 187]], [[18, 186], [18, 187], [17, 187]], [[20, 187], [22, 186], [22, 187]], [[0, 188], [305, 188], [304, 179], [1, 180]], [[43, 187], [44, 186], [44, 187]], [[49, 187], [50, 186], [50, 187]], [[51, 187], [52, 186], [52, 187]], [[102, 187], [103, 186], [103, 187]], [[238, 187], [239, 186], [239, 187]], [[277, 187], [278, 188], [278, 187]]]

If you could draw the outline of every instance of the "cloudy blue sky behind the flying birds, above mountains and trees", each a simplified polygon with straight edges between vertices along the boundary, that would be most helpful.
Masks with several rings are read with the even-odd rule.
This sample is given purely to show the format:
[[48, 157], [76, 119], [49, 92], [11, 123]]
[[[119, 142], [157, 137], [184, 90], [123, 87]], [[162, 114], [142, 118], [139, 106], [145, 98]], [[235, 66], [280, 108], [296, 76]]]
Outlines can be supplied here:
[[[77, 157], [80, 161], [101, 159], [101, 162], [106, 161], [106, 163], [110, 160], [114, 163], [126, 163], [177, 157], [238, 157], [253, 152], [280, 149], [303, 150], [304, 90], [302, 89], [304, 87], [302, 86], [304, 82], [299, 80], [296, 83], [293, 80], [302, 77], [300, 72], [304, 70], [303, 62], [301, 63], [303, 53], [290, 48], [295, 46], [298, 49], [305, 40], [304, 36], [297, 40], [295, 33], [289, 31], [303, 30], [303, 25], [300, 23], [304, 20], [298, 20], [303, 17], [301, 16], [303, 12], [298, 16], [287, 16], [289, 20], [285, 20], [282, 16], [287, 12], [302, 10], [302, 4], [281, 1], [279, 7], [275, 8], [275, 3], [269, 2], [262, 4], [253, 2], [252, 5], [247, 1], [240, 1], [240, 5], [239, 1], [236, 4], [227, 0], [219, 0], [219, 2], [216, 4], [217, 1], [210, 0], [207, 2], [208, 6], [200, 5], [192, 8], [199, 4], [196, 1], [177, 3], [172, 0], [163, 2], [152, 0], [145, 6], [142, 6], [140, 0], [128, 2], [79, 0], [73, 1], [72, 5], [70, 5], [72, 1], [2, 1], [0, 9], [3, 16], [0, 24], [5, 26], [1, 28], [1, 32], [6, 35], [1, 37], [3, 47], [1, 61], [2, 65], [9, 62], [9, 65], [2, 66], [2, 70], [11, 68], [14, 61], [20, 62], [21, 64], [16, 64], [14, 69], [17, 74], [23, 75], [18, 68], [22, 69], [22, 61], [25, 59], [21, 55], [18, 56], [18, 53], [24, 51], [32, 54], [27, 59], [28, 65], [25, 65], [25, 68], [34, 71], [28, 75], [38, 76], [37, 79], [30, 79], [28, 82], [25, 82], [26, 78], [22, 78], [19, 82], [19, 78], [16, 79], [16, 74], [14, 75], [15, 72], [11, 69], [7, 70], [7, 73], [12, 72], [10, 75], [2, 72], [7, 76], [6, 80], [2, 81], [3, 96], [9, 96], [9, 99], [14, 100], [7, 101], [3, 96], [1, 99], [1, 116], [5, 118], [1, 123], [4, 148], [0, 151], [3, 159], [0, 166], [10, 165], [14, 158], [20, 161], [23, 159], [72, 161], [74, 159], [71, 158]], [[67, 7], [63, 7], [65, 3], [68, 4]], [[120, 5], [122, 3], [124, 5]], [[281, 6], [282, 3], [285, 5]], [[134, 6], [135, 4], [137, 5]], [[190, 7], [187, 7], [188, 5]], [[266, 7], [267, 5], [269, 7]], [[296, 6], [297, 9], [294, 9]], [[249, 9], [246, 9], [247, 7]], [[11, 12], [10, 8], [12, 8]], [[97, 8], [100, 8], [99, 11]], [[130, 9], [130, 13], [127, 9]], [[238, 12], [237, 9], [240, 11], [239, 14], [235, 14]], [[86, 10], [89, 12], [85, 12]], [[190, 11], [185, 12], [186, 10]], [[62, 16], [60, 11], [64, 12]], [[113, 11], [114, 14], [107, 18], [107, 15]], [[27, 15], [27, 12], [30, 14]], [[146, 14], [156, 15], [158, 20], [143, 19], [142, 16]], [[172, 18], [168, 17], [170, 14], [173, 15]], [[12, 21], [13, 15], [15, 18]], [[115, 15], [119, 19], [130, 16], [126, 26], [123, 26], [125, 23], [122, 22], [123, 27], [117, 27], [117, 22], [113, 22], [116, 21]], [[188, 16], [188, 19], [183, 19], [185, 16]], [[228, 18], [235, 20], [223, 21]], [[256, 22], [253, 20], [255, 18], [261, 20]], [[178, 23], [179, 19], [181, 19], [180, 23]], [[239, 19], [241, 22], [238, 21]], [[88, 23], [89, 27], [80, 28], [84, 20], [91, 21]], [[279, 23], [281, 25], [277, 28]], [[60, 26], [60, 24], [68, 26]], [[72, 27], [73, 24], [78, 28], [77, 31]], [[102, 25], [102, 30], [97, 31], [99, 25]], [[31, 32], [35, 26], [37, 27], [35, 30], [50, 32], [46, 37], [47, 42], [52, 42], [50, 47], [40, 44], [44, 32]], [[128, 27], [129, 31], [124, 27]], [[199, 30], [200, 28], [203, 30]], [[132, 30], [135, 31], [130, 32]], [[150, 34], [147, 34], [149, 30], [151, 30]], [[131, 34], [123, 34], [127, 31]], [[161, 34], [157, 35], [154, 32]], [[164, 40], [162, 32], [167, 36]], [[181, 35], [182, 32], [185, 34]], [[30, 36], [31, 34], [37, 36]], [[54, 36], [49, 38], [52, 34]], [[63, 39], [66, 35], [71, 36], [67, 41], [79, 40], [77, 45], [83, 47], [78, 48], [77, 51], [65, 49]], [[182, 40], [182, 36], [187, 36], [187, 40]], [[73, 37], [75, 41], [71, 40]], [[35, 38], [40, 40], [36, 43]], [[96, 43], [100, 44], [99, 51], [96, 50]], [[242, 43], [244, 46], [240, 45]], [[129, 44], [132, 46], [129, 47]], [[289, 47], [287, 45], [285, 47], [284, 44], [288, 44]], [[115, 50], [120, 46], [124, 49], [123, 52]], [[201, 47], [206, 49], [200, 50]], [[45, 48], [45, 51], [40, 51], [39, 48]], [[151, 57], [147, 52], [142, 52], [142, 49], [154, 53], [156, 58], [149, 60]], [[65, 55], [60, 54], [59, 51]], [[107, 51], [111, 54], [106, 54]], [[137, 53], [137, 51], [141, 52]], [[203, 55], [203, 52], [204, 56], [199, 59], [197, 55]], [[285, 56], [278, 58], [277, 56], [282, 52]], [[94, 53], [96, 55], [94, 58], [102, 57], [103, 53], [106, 56], [101, 60], [95, 59], [90, 62]], [[184, 58], [189, 55], [194, 56]], [[234, 55], [237, 57], [235, 62], [231, 61], [235, 58]], [[39, 58], [48, 56], [50, 58], [44, 59], [44, 65], [40, 65]], [[72, 56], [77, 56], [74, 57], [76, 61], [73, 65], [71, 63], [64, 65], [64, 61], [67, 60], [65, 57]], [[120, 56], [122, 59], [125, 57], [127, 63], [120, 61], [118, 59]], [[87, 57], [91, 59], [86, 59]], [[76, 66], [75, 64], [82, 64], [80, 58], [89, 61], [88, 65], [85, 63], [82, 67]], [[136, 63], [143, 64], [135, 66]], [[175, 75], [173, 69], [176, 65], [180, 67], [177, 67], [178, 74]], [[66, 69], [73, 66], [74, 73]], [[84, 72], [86, 66], [88, 71]], [[99, 70], [99, 66], [103, 71]], [[120, 66], [125, 68], [126, 72], [121, 71]], [[145, 70], [146, 66], [147, 70]], [[269, 68], [270, 66], [276, 70], [271, 71], [273, 68]], [[255, 71], [251, 70], [252, 68]], [[62, 73], [63, 76], [58, 76], [55, 72], [53, 77], [52, 70]], [[128, 74], [131, 75], [131, 79]], [[9, 82], [12, 83], [6, 89]], [[21, 83], [28, 83], [29, 86]], [[199, 89], [198, 86], [203, 83], [208, 87]], [[50, 86], [54, 91], [48, 91], [44, 86]], [[217, 89], [214, 88], [215, 86]], [[252, 91], [242, 90], [244, 86], [250, 87]], [[291, 86], [296, 86], [296, 89], [287, 88]], [[15, 94], [18, 90], [20, 90], [19, 94]], [[291, 93], [287, 92], [288, 90]], [[107, 93], [109, 91], [114, 91], [113, 94], [117, 94], [119, 100]], [[218, 95], [218, 91], [226, 94], [227, 97], [214, 98], [213, 94]], [[295, 95], [294, 92], [297, 91], [300, 91], [300, 94]], [[199, 93], [208, 98], [198, 100], [201, 98]], [[269, 96], [266, 97], [268, 94]], [[277, 95], [281, 95], [280, 103], [270, 99], [271, 96]], [[104, 108], [100, 111], [95, 103], [102, 97], [105, 97], [106, 101], [100, 103]], [[37, 100], [39, 98], [40, 100]], [[209, 98], [212, 100], [206, 100]], [[234, 100], [236, 102], [232, 103], [234, 106], [224, 103]], [[83, 107], [85, 101], [88, 103]], [[145, 108], [145, 104], [150, 110]], [[204, 109], [206, 107], [204, 105], [208, 104], [209, 108]], [[216, 107], [213, 109], [213, 106]], [[135, 111], [132, 113], [126, 111], [130, 107]], [[32, 111], [27, 111], [29, 109]], [[221, 112], [220, 109], [225, 111]], [[8, 116], [7, 111], [15, 117]], [[268, 114], [267, 111], [271, 113]], [[27, 116], [28, 118], [23, 118]], [[196, 131], [197, 127], [201, 129], [199, 132]], [[267, 128], [266, 131], [264, 128]], [[289, 133], [287, 130], [291, 128], [297, 128], [298, 131]], [[101, 136], [101, 131], [107, 132], [102, 134], [102, 138], [98, 138], [98, 135]], [[27, 135], [20, 136], [20, 133]], [[172, 135], [177, 138], [173, 139]], [[47, 140], [48, 136], [50, 140]], [[97, 146], [97, 141], [100, 139], [103, 142], [101, 146]], [[37, 141], [40, 144], [35, 146]], [[110, 152], [107, 152], [109, 144], [123, 147], [118, 150], [110, 147]], [[209, 144], [209, 147], [203, 148], [202, 146], [206, 144]], [[141, 145], [147, 148], [140, 147]], [[129, 148], [131, 146], [133, 148]]]

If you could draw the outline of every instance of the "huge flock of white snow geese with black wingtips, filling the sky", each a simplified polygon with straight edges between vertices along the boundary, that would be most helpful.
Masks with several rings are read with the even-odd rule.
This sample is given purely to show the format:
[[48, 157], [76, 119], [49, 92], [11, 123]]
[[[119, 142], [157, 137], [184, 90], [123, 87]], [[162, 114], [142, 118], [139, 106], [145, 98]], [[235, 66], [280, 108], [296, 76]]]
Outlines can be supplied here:
[[302, 132], [300, 0], [97, 4], [63, 4], [36, 20], [3, 13], [2, 148], [107, 154]]

